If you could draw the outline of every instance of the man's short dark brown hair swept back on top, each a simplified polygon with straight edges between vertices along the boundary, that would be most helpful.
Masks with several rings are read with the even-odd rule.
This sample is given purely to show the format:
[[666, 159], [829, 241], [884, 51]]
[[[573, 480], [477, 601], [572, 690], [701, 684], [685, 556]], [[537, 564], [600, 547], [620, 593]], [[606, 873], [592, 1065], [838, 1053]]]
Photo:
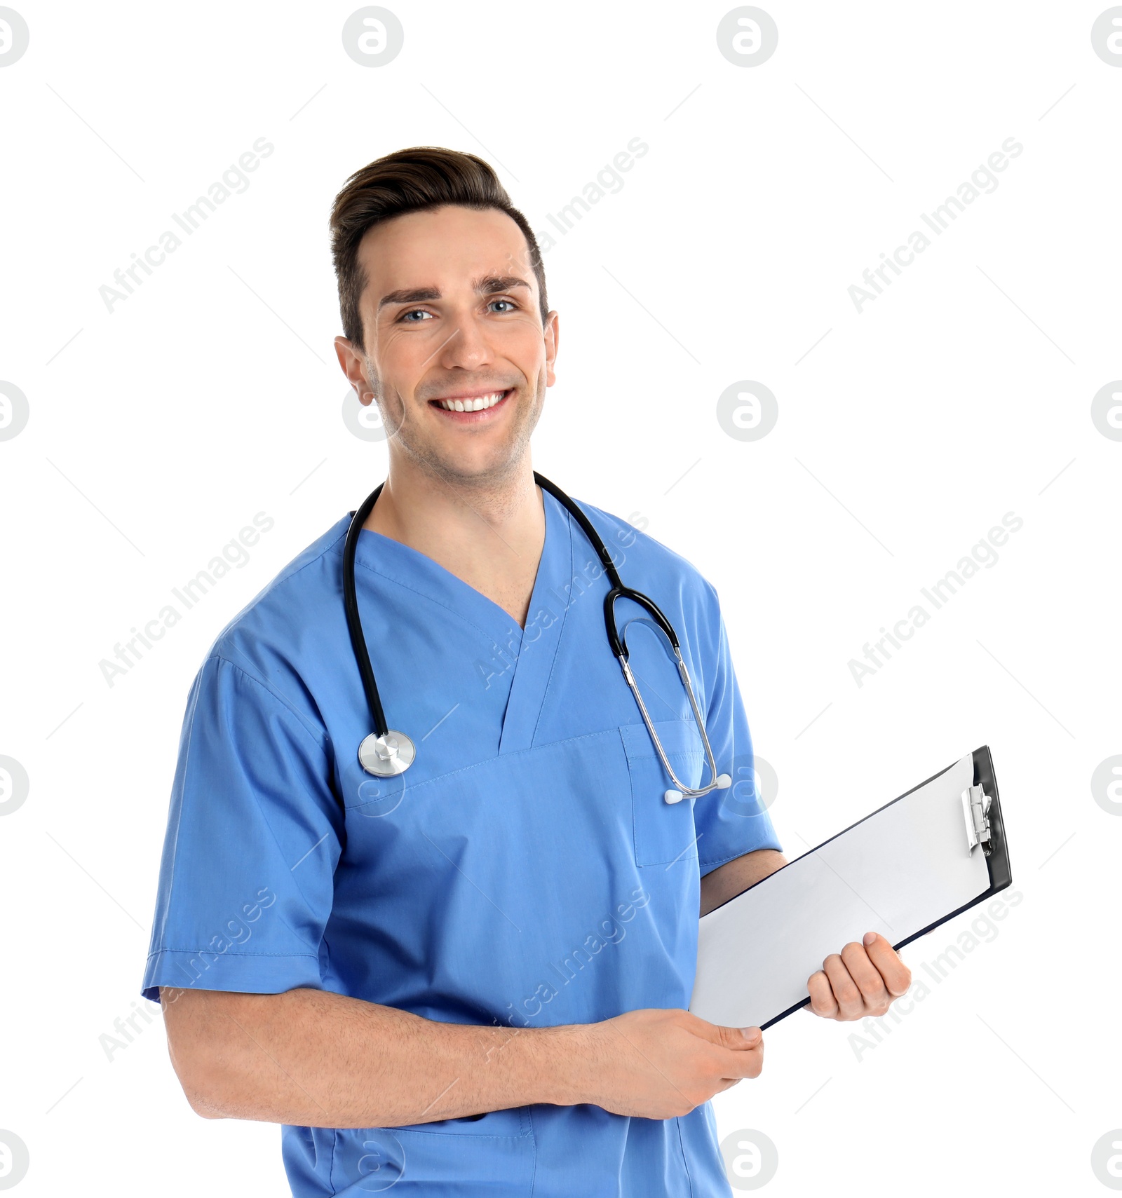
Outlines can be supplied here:
[[422, 212], [446, 204], [466, 208], [497, 208], [521, 229], [538, 282], [542, 325], [549, 315], [542, 252], [526, 218], [511, 204], [497, 175], [473, 153], [440, 146], [412, 146], [378, 158], [356, 170], [343, 184], [331, 208], [331, 255], [339, 283], [343, 335], [363, 346], [358, 301], [367, 285], [358, 261], [358, 243], [373, 225], [405, 212]]

